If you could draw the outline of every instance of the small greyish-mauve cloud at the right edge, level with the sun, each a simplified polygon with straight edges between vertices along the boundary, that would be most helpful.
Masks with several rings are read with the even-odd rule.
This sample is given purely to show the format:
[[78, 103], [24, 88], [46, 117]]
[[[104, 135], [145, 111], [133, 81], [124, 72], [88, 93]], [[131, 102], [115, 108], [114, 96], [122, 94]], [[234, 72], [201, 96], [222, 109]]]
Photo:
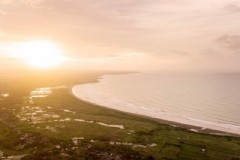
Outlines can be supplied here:
[[231, 50], [240, 50], [240, 35], [223, 35], [216, 39], [216, 41]]

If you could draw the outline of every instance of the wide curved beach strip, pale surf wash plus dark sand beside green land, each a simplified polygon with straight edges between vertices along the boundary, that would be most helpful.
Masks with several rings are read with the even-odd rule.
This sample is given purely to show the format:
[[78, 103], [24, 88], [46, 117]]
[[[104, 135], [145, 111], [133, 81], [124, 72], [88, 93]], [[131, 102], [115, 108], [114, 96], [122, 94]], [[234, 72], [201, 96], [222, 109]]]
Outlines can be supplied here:
[[204, 121], [192, 117], [185, 117], [167, 111], [156, 111], [143, 106], [136, 106], [133, 103], [122, 102], [102, 97], [94, 90], [94, 83], [80, 84], [72, 87], [72, 94], [80, 100], [93, 103], [99, 106], [111, 108], [154, 118], [160, 123], [169, 124], [175, 127], [187, 128], [192, 132], [201, 132], [216, 135], [240, 135], [240, 126]]

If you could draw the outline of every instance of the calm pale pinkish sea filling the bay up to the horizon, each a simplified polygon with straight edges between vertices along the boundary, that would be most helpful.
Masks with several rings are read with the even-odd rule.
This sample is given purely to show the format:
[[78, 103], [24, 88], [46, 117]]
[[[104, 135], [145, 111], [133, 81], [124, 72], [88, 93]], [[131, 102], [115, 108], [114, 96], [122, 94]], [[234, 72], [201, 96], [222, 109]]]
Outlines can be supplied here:
[[239, 74], [106, 75], [73, 93], [122, 111], [239, 133], [239, 82]]

